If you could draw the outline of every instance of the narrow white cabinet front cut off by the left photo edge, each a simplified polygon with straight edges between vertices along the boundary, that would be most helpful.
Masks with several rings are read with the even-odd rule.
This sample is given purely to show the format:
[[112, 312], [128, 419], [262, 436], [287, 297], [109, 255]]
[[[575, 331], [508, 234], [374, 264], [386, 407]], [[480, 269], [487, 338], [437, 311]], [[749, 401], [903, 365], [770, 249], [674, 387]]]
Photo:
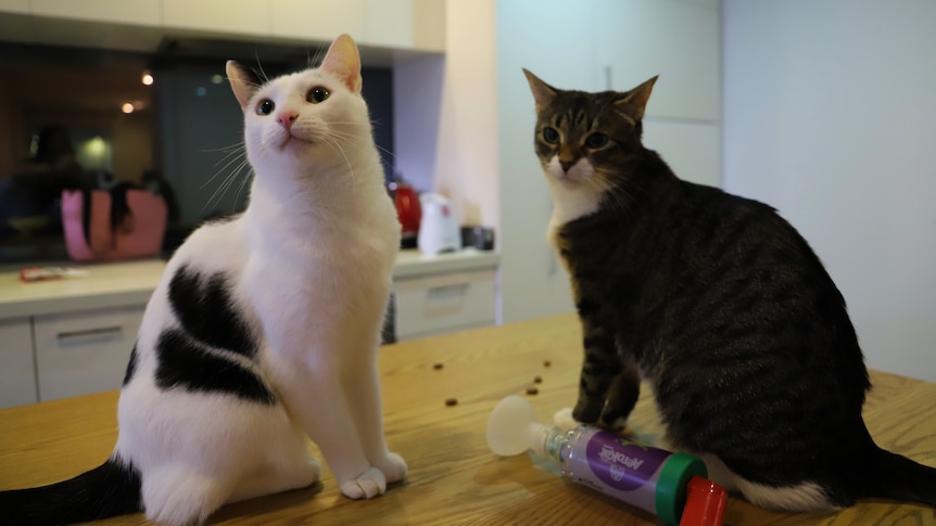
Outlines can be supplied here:
[[29, 318], [0, 320], [0, 408], [37, 401]]

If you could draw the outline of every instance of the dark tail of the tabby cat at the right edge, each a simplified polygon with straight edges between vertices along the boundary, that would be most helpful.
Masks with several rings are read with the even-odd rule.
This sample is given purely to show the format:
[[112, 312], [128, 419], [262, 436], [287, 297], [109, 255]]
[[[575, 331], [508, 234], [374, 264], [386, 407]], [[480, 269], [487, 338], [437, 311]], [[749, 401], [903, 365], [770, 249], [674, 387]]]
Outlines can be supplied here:
[[867, 459], [868, 471], [860, 476], [856, 497], [894, 499], [936, 508], [936, 467], [928, 467], [890, 451], [874, 447]]

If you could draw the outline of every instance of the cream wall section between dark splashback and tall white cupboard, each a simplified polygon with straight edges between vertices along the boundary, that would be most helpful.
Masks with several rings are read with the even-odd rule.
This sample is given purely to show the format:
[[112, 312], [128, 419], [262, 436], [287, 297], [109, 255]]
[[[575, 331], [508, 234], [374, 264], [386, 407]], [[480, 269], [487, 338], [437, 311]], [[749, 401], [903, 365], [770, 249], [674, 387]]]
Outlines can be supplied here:
[[444, 2], [445, 55], [394, 67], [396, 169], [418, 191], [452, 198], [460, 223], [496, 227], [494, 0]]

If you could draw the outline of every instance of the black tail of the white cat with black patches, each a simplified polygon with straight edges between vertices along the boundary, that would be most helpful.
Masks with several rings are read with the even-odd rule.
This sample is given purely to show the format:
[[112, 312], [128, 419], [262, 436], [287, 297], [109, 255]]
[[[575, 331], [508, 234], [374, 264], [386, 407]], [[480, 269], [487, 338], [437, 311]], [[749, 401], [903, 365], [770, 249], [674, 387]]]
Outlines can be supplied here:
[[139, 512], [140, 485], [139, 471], [112, 457], [68, 480], [0, 491], [0, 516], [3, 524], [54, 526]]

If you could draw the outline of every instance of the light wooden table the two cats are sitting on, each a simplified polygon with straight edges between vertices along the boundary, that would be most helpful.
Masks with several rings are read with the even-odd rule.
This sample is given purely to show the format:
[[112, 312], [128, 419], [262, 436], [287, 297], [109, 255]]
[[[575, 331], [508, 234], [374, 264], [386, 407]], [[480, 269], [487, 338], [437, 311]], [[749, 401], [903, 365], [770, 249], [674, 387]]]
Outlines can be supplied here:
[[[574, 402], [580, 362], [572, 315], [388, 346], [380, 356], [387, 435], [409, 464], [407, 479], [380, 498], [351, 501], [326, 469], [318, 487], [225, 506], [210, 524], [658, 524], [561, 478], [552, 461], [488, 450], [485, 425], [498, 400], [526, 396], [549, 421]], [[526, 394], [536, 376], [539, 393]], [[936, 465], [936, 384], [882, 372], [872, 381], [864, 415], [877, 442]], [[446, 406], [447, 398], [457, 405]], [[99, 465], [116, 438], [116, 399], [105, 393], [0, 411], [0, 488], [48, 484]], [[648, 389], [630, 423], [643, 441], [659, 440]], [[865, 501], [837, 514], [779, 514], [732, 498], [725, 523], [936, 524], [936, 510]], [[136, 514], [94, 524], [147, 522]]]

